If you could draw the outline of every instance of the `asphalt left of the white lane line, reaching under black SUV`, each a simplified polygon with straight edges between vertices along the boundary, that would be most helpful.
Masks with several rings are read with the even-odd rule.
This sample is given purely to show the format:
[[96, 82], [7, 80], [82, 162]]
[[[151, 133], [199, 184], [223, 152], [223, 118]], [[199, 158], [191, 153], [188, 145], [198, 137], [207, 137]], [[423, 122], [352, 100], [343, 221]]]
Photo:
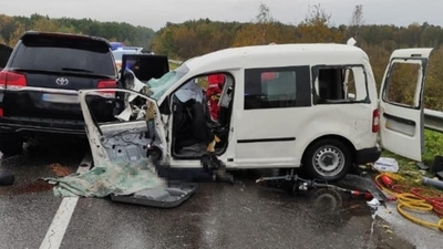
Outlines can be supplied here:
[[49, 143], [28, 156], [2, 158], [0, 169], [14, 173], [16, 183], [0, 186], [0, 248], [39, 248], [61, 203], [39, 178], [75, 170], [86, 148], [81, 145]]

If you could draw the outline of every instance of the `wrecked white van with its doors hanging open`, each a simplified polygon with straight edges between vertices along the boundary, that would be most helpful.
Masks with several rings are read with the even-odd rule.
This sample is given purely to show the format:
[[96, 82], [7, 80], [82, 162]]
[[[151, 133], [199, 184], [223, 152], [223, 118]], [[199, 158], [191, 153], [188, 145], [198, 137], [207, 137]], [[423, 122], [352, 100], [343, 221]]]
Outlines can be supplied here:
[[[166, 58], [128, 55], [136, 66], [123, 74], [122, 89], [82, 90], [79, 97], [95, 165], [152, 157], [172, 168], [200, 168], [214, 155], [227, 169], [301, 168], [337, 180], [352, 165], [380, 157], [379, 134], [382, 147], [421, 160], [431, 51], [394, 51], [380, 102], [367, 53], [344, 44], [231, 48], [173, 71]], [[411, 105], [393, 96], [404, 65], [416, 89]], [[153, 70], [164, 75], [148, 76]], [[223, 75], [216, 118], [207, 96], [215, 74]], [[87, 107], [94, 97], [115, 103], [114, 120], [94, 118]]]

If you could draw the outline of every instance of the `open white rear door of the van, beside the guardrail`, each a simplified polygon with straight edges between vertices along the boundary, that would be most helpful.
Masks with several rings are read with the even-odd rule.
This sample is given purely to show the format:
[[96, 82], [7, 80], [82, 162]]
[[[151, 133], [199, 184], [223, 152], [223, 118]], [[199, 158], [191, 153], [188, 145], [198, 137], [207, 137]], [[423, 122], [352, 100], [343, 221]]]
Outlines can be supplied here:
[[380, 87], [382, 147], [418, 162], [424, 149], [423, 89], [431, 52], [395, 50]]

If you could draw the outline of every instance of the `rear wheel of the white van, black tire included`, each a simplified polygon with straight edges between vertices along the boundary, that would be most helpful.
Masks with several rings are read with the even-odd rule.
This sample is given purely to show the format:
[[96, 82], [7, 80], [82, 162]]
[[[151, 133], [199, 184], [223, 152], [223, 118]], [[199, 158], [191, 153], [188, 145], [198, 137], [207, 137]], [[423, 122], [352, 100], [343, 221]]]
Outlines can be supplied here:
[[309, 146], [302, 158], [302, 169], [312, 178], [339, 180], [352, 166], [352, 154], [338, 139], [326, 138]]

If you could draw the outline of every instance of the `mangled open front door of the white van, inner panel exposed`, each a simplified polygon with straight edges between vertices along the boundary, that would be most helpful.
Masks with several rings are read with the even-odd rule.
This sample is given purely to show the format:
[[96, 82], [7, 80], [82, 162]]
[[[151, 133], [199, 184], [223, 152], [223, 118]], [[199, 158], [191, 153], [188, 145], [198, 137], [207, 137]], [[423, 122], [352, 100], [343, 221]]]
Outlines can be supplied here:
[[[94, 118], [91, 106], [103, 97], [114, 103], [115, 121]], [[80, 90], [79, 98], [94, 165], [136, 162], [146, 158], [147, 152], [167, 154], [165, 125], [155, 100], [124, 89]]]

